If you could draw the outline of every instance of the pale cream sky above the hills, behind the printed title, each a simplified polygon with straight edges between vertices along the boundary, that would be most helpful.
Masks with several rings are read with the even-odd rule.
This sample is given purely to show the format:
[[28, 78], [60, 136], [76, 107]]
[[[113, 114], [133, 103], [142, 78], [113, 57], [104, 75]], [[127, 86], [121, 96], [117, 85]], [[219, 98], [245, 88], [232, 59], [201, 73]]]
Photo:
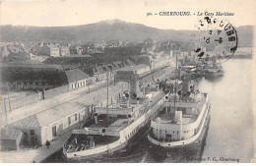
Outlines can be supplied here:
[[[149, 16], [147, 13], [191, 12], [190, 17]], [[0, 25], [65, 27], [119, 19], [161, 29], [193, 29], [198, 12], [229, 12], [220, 17], [234, 27], [255, 25], [255, 0], [51, 0], [0, 3]], [[216, 17], [215, 17], [216, 18]]]

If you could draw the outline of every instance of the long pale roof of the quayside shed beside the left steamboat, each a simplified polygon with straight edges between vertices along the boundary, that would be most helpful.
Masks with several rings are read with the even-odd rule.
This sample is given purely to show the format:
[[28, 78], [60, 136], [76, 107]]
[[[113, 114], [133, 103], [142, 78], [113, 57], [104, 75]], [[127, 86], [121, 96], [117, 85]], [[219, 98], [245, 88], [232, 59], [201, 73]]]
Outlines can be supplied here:
[[[128, 89], [128, 83], [116, 83], [115, 86], [110, 85], [108, 90], [109, 97], [115, 95], [121, 89]], [[41, 111], [37, 114], [14, 122], [8, 125], [8, 127], [26, 129], [46, 127], [64, 118], [76, 114], [77, 112], [85, 109], [88, 105], [96, 105], [102, 100], [106, 100], [106, 88], [99, 89], [85, 96], [78, 97], [74, 100]]]

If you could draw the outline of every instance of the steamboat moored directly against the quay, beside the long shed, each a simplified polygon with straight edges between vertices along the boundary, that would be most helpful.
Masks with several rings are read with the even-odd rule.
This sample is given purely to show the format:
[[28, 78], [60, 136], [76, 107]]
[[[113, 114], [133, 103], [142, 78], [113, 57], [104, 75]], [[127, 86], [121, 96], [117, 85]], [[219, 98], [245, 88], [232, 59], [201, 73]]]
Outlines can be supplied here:
[[126, 95], [116, 107], [96, 107], [94, 123], [84, 129], [73, 130], [63, 145], [63, 154], [72, 161], [126, 152], [149, 130], [150, 121], [162, 109], [165, 95], [159, 89], [152, 89], [140, 99], [132, 100]]

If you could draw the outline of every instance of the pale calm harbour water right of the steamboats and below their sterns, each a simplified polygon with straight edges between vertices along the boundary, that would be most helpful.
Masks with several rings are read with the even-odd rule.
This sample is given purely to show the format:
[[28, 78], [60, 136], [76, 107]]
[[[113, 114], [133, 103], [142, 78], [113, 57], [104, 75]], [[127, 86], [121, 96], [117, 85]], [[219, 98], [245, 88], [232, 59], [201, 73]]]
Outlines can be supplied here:
[[[144, 138], [121, 157], [81, 158], [77, 162], [214, 162], [214, 157], [219, 162], [224, 162], [220, 161], [222, 157], [233, 159], [232, 162], [237, 159], [250, 162], [253, 157], [252, 63], [251, 60], [231, 59], [223, 64], [224, 77], [198, 80], [200, 90], [210, 94], [212, 103], [210, 129], [201, 146], [187, 151], [177, 149], [174, 153], [182, 155], [173, 158], [173, 152], [149, 148], [151, 143]], [[61, 159], [60, 152], [48, 162], [65, 160]]]

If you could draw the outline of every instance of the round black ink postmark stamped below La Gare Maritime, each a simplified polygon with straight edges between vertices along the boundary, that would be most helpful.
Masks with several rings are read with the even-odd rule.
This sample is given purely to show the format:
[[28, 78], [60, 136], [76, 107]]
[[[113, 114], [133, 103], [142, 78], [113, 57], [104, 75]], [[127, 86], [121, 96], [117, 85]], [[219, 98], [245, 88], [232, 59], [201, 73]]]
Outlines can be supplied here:
[[216, 60], [223, 63], [231, 58], [238, 46], [237, 32], [227, 21], [205, 17], [196, 25], [193, 34], [195, 55], [204, 63]]

